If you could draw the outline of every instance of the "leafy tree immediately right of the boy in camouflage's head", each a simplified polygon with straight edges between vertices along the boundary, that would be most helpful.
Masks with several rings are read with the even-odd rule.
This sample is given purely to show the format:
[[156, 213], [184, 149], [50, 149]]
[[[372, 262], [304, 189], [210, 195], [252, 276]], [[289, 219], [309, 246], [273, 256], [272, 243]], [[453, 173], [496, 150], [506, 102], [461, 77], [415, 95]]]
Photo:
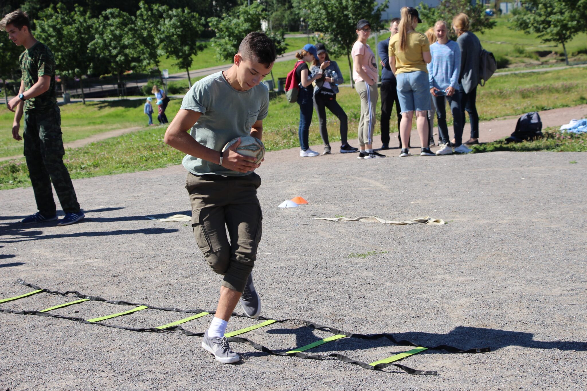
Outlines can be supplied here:
[[94, 39], [95, 22], [96, 19], [80, 6], [69, 12], [62, 3], [44, 9], [36, 20], [35, 37], [53, 52], [56, 70], [64, 80], [63, 92], [66, 79], [79, 77], [83, 104], [86, 104], [86, 98], [82, 76], [87, 73], [91, 62], [87, 47]]

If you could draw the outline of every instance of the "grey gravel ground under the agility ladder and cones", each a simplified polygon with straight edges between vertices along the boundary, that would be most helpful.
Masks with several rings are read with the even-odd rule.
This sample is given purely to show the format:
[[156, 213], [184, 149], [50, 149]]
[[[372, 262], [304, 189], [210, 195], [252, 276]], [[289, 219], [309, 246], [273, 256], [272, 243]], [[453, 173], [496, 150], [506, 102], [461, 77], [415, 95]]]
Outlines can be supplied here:
[[[268, 356], [245, 344], [232, 344], [239, 365], [221, 365], [203, 352], [201, 338], [180, 332], [0, 313], [0, 390], [585, 389], [587, 154], [357, 161], [297, 153], [269, 152], [258, 169], [264, 233], [254, 276], [262, 314], [491, 352], [426, 351], [402, 361], [438, 376]], [[35, 210], [32, 189], [0, 192], [0, 297], [30, 291], [16, 284], [23, 278], [112, 300], [214, 310], [220, 278], [205, 266], [191, 227], [146, 219], [190, 213], [184, 179], [180, 166], [78, 179], [87, 218], [66, 227], [20, 225]], [[294, 196], [309, 205], [277, 208]], [[431, 216], [448, 224], [313, 219], [335, 215]], [[70, 300], [38, 294], [0, 307], [42, 310]], [[55, 313], [87, 319], [129, 308], [84, 302]], [[105, 322], [154, 327], [187, 316], [144, 310]], [[209, 321], [184, 327], [204, 331]], [[255, 323], [233, 318], [228, 331]], [[244, 336], [286, 351], [329, 335], [291, 321]], [[309, 352], [372, 362], [406, 350], [384, 339], [343, 338]]]

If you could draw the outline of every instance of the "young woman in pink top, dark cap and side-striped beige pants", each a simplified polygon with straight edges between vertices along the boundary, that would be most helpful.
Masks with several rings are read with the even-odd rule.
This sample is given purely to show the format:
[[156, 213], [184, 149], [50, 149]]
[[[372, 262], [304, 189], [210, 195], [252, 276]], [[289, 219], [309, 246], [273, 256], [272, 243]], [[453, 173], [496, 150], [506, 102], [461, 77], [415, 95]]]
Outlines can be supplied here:
[[373, 130], [375, 130], [375, 106], [377, 104], [377, 64], [375, 54], [367, 45], [371, 35], [369, 21], [357, 22], [357, 41], [350, 55], [353, 57], [353, 79], [355, 89], [361, 99], [361, 116], [359, 119], [359, 156], [357, 159], [384, 158], [385, 155], [373, 149]]

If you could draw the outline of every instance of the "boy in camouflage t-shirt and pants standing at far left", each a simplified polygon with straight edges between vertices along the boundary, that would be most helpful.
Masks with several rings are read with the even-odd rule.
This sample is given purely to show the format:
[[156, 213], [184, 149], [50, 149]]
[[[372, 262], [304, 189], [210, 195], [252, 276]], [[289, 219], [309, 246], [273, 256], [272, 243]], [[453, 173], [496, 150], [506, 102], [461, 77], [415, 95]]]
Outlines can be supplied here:
[[[15, 111], [12, 137], [24, 138], [26, 166], [35, 193], [39, 212], [26, 217], [23, 223], [38, 223], [56, 220], [51, 182], [65, 217], [58, 225], [69, 225], [85, 217], [79, 203], [68, 169], [63, 164], [63, 140], [61, 138], [61, 114], [55, 97], [55, 59], [43, 43], [38, 42], [30, 30], [28, 15], [17, 10], [4, 16], [2, 29], [17, 46], [24, 46], [20, 57], [22, 81], [19, 96], [9, 101], [8, 108]], [[22, 114], [25, 116], [25, 131], [19, 135]]]

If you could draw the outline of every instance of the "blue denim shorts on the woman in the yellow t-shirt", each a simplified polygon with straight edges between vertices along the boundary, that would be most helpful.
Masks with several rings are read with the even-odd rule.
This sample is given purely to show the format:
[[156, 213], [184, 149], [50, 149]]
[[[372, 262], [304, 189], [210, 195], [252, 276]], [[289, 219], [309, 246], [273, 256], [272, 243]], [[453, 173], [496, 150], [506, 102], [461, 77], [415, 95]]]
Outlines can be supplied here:
[[416, 72], [398, 73], [397, 98], [400, 101], [402, 114], [406, 111], [430, 110], [430, 83], [428, 73], [418, 70]]

